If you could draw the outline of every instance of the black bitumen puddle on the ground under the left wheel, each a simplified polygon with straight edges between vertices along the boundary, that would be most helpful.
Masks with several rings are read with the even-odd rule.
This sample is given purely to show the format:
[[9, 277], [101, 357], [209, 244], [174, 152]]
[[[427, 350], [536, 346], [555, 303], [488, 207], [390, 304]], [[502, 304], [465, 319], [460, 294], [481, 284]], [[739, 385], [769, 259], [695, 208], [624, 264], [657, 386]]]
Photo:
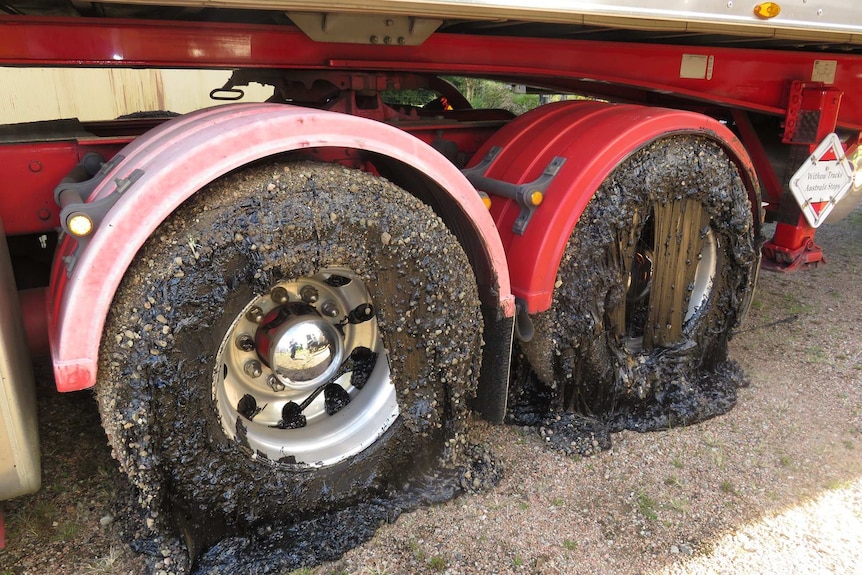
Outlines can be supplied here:
[[464, 465], [444, 465], [397, 491], [296, 522], [260, 524], [241, 534], [226, 535], [223, 521], [211, 517], [198, 517], [194, 524], [180, 521], [181, 534], [171, 534], [165, 524], [150, 529], [155, 525], [138, 507], [137, 497], [126, 493], [124, 537], [149, 558], [149, 572], [156, 575], [257, 575], [312, 567], [338, 559], [402, 513], [499, 483], [503, 468], [493, 454], [479, 445], [469, 445], [465, 452]]

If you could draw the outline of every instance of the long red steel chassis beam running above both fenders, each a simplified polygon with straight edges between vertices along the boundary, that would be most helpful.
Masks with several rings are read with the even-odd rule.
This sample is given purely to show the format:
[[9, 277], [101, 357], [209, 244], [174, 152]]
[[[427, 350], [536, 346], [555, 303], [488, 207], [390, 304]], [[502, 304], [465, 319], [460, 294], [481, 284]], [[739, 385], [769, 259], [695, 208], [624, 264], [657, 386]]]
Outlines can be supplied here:
[[[0, 33], [0, 65], [403, 70], [560, 87], [588, 80], [781, 116], [790, 83], [817, 80], [815, 69], [834, 62], [831, 85], [846, 95], [839, 125], [862, 129], [855, 55], [452, 34], [421, 46], [334, 44], [290, 27], [20, 16], [0, 17]], [[680, 77], [685, 55], [711, 62], [703, 78]]]

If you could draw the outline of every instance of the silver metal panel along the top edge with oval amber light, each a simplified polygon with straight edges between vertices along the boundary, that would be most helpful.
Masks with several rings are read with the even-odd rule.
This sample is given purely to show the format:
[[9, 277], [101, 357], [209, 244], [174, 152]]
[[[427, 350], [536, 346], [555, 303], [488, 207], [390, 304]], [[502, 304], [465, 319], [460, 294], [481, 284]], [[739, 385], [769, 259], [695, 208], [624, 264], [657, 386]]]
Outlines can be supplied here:
[[[125, 4], [153, 4], [147, 0], [109, 0]], [[428, 18], [525, 20], [584, 24], [604, 22], [621, 28], [651, 29], [658, 22], [674, 23], [675, 30], [736, 34], [755, 30], [759, 35], [858, 42], [862, 33], [862, 2], [855, 0], [778, 0], [781, 13], [772, 19], [755, 15], [763, 0], [161, 0], [174, 6], [255, 8], [312, 12], [355, 12]], [[616, 24], [615, 24], [616, 23]]]

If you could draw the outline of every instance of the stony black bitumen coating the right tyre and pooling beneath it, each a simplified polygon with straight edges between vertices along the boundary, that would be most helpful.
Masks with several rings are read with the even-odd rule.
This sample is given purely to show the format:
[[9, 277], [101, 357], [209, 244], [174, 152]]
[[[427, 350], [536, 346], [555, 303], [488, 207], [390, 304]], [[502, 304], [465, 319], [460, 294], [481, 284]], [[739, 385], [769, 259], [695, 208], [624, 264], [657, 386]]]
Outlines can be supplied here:
[[[631, 353], [610, 328], [625, 298], [618, 242], [654, 203], [699, 202], [716, 240], [711, 295], [680, 341]], [[703, 138], [658, 140], [624, 161], [580, 218], [560, 264], [550, 310], [520, 345], [508, 420], [535, 427], [550, 446], [589, 454], [609, 433], [688, 425], [725, 413], [745, 384], [727, 342], [753, 289], [759, 238], [733, 163]]]

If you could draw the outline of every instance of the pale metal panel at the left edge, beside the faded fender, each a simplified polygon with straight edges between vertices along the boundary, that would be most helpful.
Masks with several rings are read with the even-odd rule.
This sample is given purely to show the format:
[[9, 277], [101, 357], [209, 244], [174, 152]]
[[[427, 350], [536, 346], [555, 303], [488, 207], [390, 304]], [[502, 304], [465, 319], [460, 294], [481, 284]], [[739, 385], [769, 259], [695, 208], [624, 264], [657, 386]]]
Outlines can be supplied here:
[[0, 221], [0, 499], [41, 484], [33, 368]]

